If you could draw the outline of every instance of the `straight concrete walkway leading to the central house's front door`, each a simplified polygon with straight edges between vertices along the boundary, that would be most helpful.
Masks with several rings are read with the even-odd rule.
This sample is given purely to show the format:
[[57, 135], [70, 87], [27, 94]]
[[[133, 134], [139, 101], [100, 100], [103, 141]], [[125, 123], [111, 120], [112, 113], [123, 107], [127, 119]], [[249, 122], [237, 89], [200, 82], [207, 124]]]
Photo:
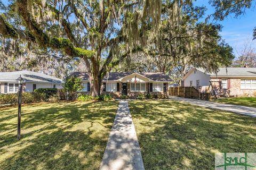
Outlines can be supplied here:
[[100, 170], [143, 170], [140, 146], [127, 101], [120, 101]]

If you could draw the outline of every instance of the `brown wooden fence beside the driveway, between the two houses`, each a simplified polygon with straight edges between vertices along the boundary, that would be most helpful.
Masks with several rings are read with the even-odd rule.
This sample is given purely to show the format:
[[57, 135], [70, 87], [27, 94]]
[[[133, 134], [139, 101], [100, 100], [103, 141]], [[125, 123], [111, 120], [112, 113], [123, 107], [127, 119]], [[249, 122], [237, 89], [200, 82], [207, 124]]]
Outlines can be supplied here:
[[192, 98], [192, 99], [202, 99], [202, 100], [210, 100], [210, 93], [200, 92], [195, 87], [170, 87], [169, 88], [170, 96], [184, 97], [184, 98]]

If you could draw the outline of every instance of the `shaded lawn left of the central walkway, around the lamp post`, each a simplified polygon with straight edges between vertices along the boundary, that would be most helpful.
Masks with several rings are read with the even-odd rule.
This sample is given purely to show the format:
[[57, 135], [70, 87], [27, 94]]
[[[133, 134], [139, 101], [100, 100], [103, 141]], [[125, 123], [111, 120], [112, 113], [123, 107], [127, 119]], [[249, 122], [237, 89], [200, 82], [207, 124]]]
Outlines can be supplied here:
[[118, 103], [45, 103], [0, 110], [0, 169], [99, 169]]

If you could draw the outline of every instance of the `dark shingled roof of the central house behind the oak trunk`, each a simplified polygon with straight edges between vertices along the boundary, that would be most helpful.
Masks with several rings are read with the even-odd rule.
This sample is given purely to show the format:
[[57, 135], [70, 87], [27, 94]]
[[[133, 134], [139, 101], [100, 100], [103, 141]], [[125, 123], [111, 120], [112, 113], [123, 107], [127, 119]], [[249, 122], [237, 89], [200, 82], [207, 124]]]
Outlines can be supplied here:
[[[110, 72], [103, 78], [103, 81], [107, 81], [107, 80], [118, 81], [131, 74], [133, 74], [133, 72]], [[164, 73], [145, 72], [145, 73], [137, 73], [137, 74], [140, 74], [143, 77], [146, 77], [153, 81], [172, 81], [172, 79], [170, 79], [168, 75]], [[89, 75], [86, 72], [74, 72], [71, 74], [71, 76], [74, 76], [74, 75], [81, 78], [82, 80], [89, 80]]]

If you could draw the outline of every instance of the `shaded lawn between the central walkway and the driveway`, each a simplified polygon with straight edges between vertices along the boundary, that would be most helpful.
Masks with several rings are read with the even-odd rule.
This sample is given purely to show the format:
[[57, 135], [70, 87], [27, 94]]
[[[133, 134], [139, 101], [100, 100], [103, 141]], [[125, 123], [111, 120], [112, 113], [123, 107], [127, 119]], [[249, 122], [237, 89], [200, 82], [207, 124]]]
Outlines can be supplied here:
[[256, 118], [172, 100], [129, 106], [145, 169], [214, 169], [217, 152], [256, 152]]

